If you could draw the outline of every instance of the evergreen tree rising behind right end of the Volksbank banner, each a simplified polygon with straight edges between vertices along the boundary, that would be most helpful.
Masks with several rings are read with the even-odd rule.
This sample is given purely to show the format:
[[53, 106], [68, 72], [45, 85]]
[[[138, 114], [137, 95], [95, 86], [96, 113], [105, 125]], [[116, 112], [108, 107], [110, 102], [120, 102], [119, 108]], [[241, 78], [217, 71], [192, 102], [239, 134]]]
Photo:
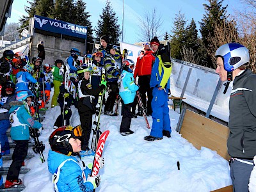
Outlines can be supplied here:
[[83, 0], [78, 0], [76, 3], [76, 20], [74, 24], [87, 27], [87, 42], [93, 41], [92, 22], [90, 22], [89, 12], [86, 12], [86, 3]]

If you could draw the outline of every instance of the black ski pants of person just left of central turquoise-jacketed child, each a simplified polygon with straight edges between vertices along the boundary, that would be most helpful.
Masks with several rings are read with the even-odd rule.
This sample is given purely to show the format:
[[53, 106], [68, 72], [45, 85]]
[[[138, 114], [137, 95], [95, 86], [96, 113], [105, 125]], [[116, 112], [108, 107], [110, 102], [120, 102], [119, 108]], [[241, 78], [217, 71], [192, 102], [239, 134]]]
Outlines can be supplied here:
[[119, 92], [117, 81], [107, 83], [109, 90], [108, 99], [105, 104], [104, 112], [113, 111], [113, 107], [116, 100], [116, 94]]

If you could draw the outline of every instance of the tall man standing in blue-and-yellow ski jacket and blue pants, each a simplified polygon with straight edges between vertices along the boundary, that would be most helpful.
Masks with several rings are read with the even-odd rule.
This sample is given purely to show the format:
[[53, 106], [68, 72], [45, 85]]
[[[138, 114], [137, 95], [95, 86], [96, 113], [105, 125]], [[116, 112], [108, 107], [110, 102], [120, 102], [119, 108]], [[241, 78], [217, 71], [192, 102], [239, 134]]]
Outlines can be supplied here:
[[156, 36], [150, 41], [151, 49], [154, 51], [156, 60], [152, 67], [150, 87], [152, 90], [152, 129], [149, 136], [144, 140], [162, 140], [163, 136], [171, 137], [171, 122], [168, 108], [168, 93], [170, 92], [170, 75], [172, 63], [168, 50], [160, 44]]

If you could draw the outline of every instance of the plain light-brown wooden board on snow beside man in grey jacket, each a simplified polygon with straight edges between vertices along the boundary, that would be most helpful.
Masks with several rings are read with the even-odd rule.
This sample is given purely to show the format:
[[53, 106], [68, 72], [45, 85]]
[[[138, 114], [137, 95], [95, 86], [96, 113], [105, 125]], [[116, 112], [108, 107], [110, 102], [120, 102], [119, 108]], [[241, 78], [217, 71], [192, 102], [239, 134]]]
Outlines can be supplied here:
[[[214, 122], [189, 109], [183, 109], [180, 113], [176, 131], [180, 132], [182, 138], [188, 140], [198, 150], [201, 147], [207, 147], [216, 150], [227, 161], [230, 159], [227, 152], [227, 138], [230, 131], [227, 126]], [[216, 191], [231, 192], [233, 188], [232, 186], [226, 186]]]

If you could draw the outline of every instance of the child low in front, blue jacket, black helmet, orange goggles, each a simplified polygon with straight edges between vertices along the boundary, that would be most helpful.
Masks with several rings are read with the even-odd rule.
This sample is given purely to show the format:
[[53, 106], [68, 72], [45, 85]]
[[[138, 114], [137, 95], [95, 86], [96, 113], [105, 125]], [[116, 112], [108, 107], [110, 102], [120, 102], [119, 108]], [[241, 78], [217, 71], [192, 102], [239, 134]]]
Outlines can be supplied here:
[[[54, 189], [59, 192], [92, 192], [100, 184], [100, 176], [91, 177], [92, 164], [81, 167], [75, 156], [81, 152], [80, 125], [60, 127], [49, 136], [51, 150], [48, 154], [48, 169], [54, 178]], [[104, 166], [104, 164], [100, 164]], [[90, 167], [90, 168], [89, 168]]]

